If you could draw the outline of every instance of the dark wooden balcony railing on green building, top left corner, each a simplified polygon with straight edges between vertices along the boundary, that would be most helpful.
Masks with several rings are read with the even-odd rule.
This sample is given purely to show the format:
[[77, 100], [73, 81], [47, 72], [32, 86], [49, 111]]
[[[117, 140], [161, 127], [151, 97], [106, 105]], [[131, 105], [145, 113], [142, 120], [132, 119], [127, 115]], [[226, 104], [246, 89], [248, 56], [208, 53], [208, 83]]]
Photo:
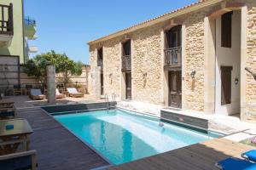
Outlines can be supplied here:
[[14, 35], [13, 4], [0, 4], [0, 34]]

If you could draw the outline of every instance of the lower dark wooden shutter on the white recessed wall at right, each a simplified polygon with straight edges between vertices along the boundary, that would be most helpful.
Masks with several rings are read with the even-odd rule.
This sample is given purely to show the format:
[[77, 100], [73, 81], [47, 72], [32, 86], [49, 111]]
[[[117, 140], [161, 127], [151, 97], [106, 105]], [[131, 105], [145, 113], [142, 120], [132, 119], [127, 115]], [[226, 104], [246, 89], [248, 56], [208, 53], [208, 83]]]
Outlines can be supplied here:
[[232, 66], [221, 66], [221, 105], [231, 103], [231, 71]]

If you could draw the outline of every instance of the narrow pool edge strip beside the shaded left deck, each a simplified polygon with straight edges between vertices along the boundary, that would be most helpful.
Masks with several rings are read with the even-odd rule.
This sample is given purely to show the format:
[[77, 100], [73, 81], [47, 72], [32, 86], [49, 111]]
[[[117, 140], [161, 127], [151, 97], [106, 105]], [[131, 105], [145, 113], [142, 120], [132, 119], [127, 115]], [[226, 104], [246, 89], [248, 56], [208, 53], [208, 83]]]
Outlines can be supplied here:
[[[81, 139], [78, 135], [76, 135], [75, 133], [73, 133], [71, 130], [69, 130], [67, 127], [65, 127], [64, 125], [61, 124], [61, 122], [58, 122], [55, 117], [53, 115], [51, 115], [50, 113], [48, 113], [47, 111], [45, 111], [44, 109], [42, 109], [42, 107], [40, 107], [40, 109], [42, 111], [44, 111], [45, 114], [47, 114], [48, 116], [50, 116], [52, 119], [54, 119], [55, 122], [59, 123], [61, 125], [61, 127], [64, 127], [65, 129], [67, 129], [67, 131], [69, 133], [72, 133], [77, 139], [79, 139], [81, 142], [83, 142], [86, 146], [88, 146], [90, 148], [90, 150], [93, 150], [98, 156], [101, 156], [102, 159], [104, 161], [107, 161], [109, 166], [114, 166], [113, 162], [110, 161], [106, 156], [103, 156], [102, 153], [100, 153], [98, 150], [96, 150], [92, 145], [90, 145], [89, 143], [87, 143], [86, 141], [84, 141], [83, 139]], [[102, 168], [104, 168], [106, 166], [103, 166]], [[101, 167], [96, 167], [96, 168], [101, 168]]]

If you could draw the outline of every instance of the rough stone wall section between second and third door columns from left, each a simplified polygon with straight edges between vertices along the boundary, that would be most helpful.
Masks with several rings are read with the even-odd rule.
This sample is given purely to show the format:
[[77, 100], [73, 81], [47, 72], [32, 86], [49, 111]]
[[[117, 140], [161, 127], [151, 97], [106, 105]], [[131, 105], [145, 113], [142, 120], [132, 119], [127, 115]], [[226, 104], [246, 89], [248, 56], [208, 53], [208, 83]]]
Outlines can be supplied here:
[[132, 99], [162, 104], [161, 37], [162, 24], [131, 34]]

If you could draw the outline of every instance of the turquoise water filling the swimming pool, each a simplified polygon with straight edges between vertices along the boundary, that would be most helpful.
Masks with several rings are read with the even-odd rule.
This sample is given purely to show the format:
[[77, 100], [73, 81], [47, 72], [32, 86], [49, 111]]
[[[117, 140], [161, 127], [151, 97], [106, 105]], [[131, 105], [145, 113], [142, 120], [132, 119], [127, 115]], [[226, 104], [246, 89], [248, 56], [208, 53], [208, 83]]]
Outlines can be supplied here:
[[211, 136], [125, 111], [94, 111], [55, 116], [80, 139], [119, 165], [196, 144]]

